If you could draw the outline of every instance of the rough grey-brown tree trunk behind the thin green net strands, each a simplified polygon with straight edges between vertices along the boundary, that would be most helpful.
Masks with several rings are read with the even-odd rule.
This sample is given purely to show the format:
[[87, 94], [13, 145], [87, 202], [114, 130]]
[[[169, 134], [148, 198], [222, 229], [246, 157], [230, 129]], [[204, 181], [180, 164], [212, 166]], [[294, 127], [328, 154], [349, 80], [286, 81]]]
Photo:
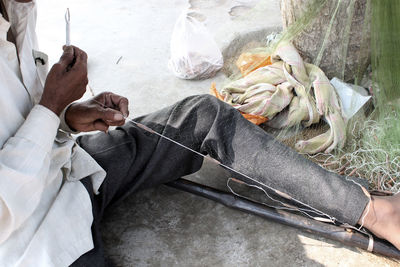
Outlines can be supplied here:
[[[281, 0], [284, 27], [295, 23], [310, 2], [312, 0]], [[367, 2], [368, 0], [328, 0], [314, 21], [293, 40], [303, 59], [319, 65], [329, 78], [359, 81], [370, 61]], [[331, 24], [335, 10], [337, 13]], [[365, 20], [365, 17], [368, 19]], [[325, 47], [322, 53], [321, 47]]]

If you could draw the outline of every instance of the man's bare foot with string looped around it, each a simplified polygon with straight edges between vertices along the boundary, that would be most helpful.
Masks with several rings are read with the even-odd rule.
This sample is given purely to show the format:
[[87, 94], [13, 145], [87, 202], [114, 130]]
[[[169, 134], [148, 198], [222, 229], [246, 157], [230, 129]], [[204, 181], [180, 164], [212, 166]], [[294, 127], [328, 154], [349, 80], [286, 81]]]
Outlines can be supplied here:
[[[368, 230], [400, 250], [400, 194], [390, 197], [372, 196], [369, 211], [367, 206], [362, 217], [364, 215], [364, 226]], [[362, 223], [361, 219], [359, 223]]]

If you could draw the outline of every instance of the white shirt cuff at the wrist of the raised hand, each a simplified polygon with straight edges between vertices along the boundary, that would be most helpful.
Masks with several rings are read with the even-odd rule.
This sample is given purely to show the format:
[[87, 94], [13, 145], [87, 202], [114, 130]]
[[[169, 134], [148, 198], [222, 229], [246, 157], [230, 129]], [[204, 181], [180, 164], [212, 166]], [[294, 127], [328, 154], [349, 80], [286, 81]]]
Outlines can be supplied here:
[[60, 119], [42, 105], [33, 107], [25, 123], [19, 128], [15, 137], [31, 140], [35, 144], [50, 151], [57, 135]]

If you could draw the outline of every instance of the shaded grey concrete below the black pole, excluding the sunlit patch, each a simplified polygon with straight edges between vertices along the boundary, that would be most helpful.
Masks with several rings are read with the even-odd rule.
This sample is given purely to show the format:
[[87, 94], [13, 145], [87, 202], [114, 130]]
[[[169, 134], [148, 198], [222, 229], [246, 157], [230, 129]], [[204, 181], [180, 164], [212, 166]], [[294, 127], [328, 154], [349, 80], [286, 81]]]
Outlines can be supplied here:
[[[216, 168], [203, 168], [190, 179], [224, 187], [224, 173]], [[205, 176], [210, 173], [221, 176]], [[108, 210], [103, 238], [117, 266], [323, 266], [299, 249], [303, 241], [298, 234], [296, 229], [160, 186]]]

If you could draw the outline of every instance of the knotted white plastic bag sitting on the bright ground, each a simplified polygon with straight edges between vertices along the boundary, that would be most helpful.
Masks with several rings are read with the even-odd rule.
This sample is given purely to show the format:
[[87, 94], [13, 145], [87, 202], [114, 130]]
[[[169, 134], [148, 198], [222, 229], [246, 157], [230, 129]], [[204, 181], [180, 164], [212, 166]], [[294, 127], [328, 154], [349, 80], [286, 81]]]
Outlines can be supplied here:
[[207, 79], [222, 68], [224, 61], [206, 27], [186, 10], [176, 21], [171, 37], [169, 68], [181, 79]]

